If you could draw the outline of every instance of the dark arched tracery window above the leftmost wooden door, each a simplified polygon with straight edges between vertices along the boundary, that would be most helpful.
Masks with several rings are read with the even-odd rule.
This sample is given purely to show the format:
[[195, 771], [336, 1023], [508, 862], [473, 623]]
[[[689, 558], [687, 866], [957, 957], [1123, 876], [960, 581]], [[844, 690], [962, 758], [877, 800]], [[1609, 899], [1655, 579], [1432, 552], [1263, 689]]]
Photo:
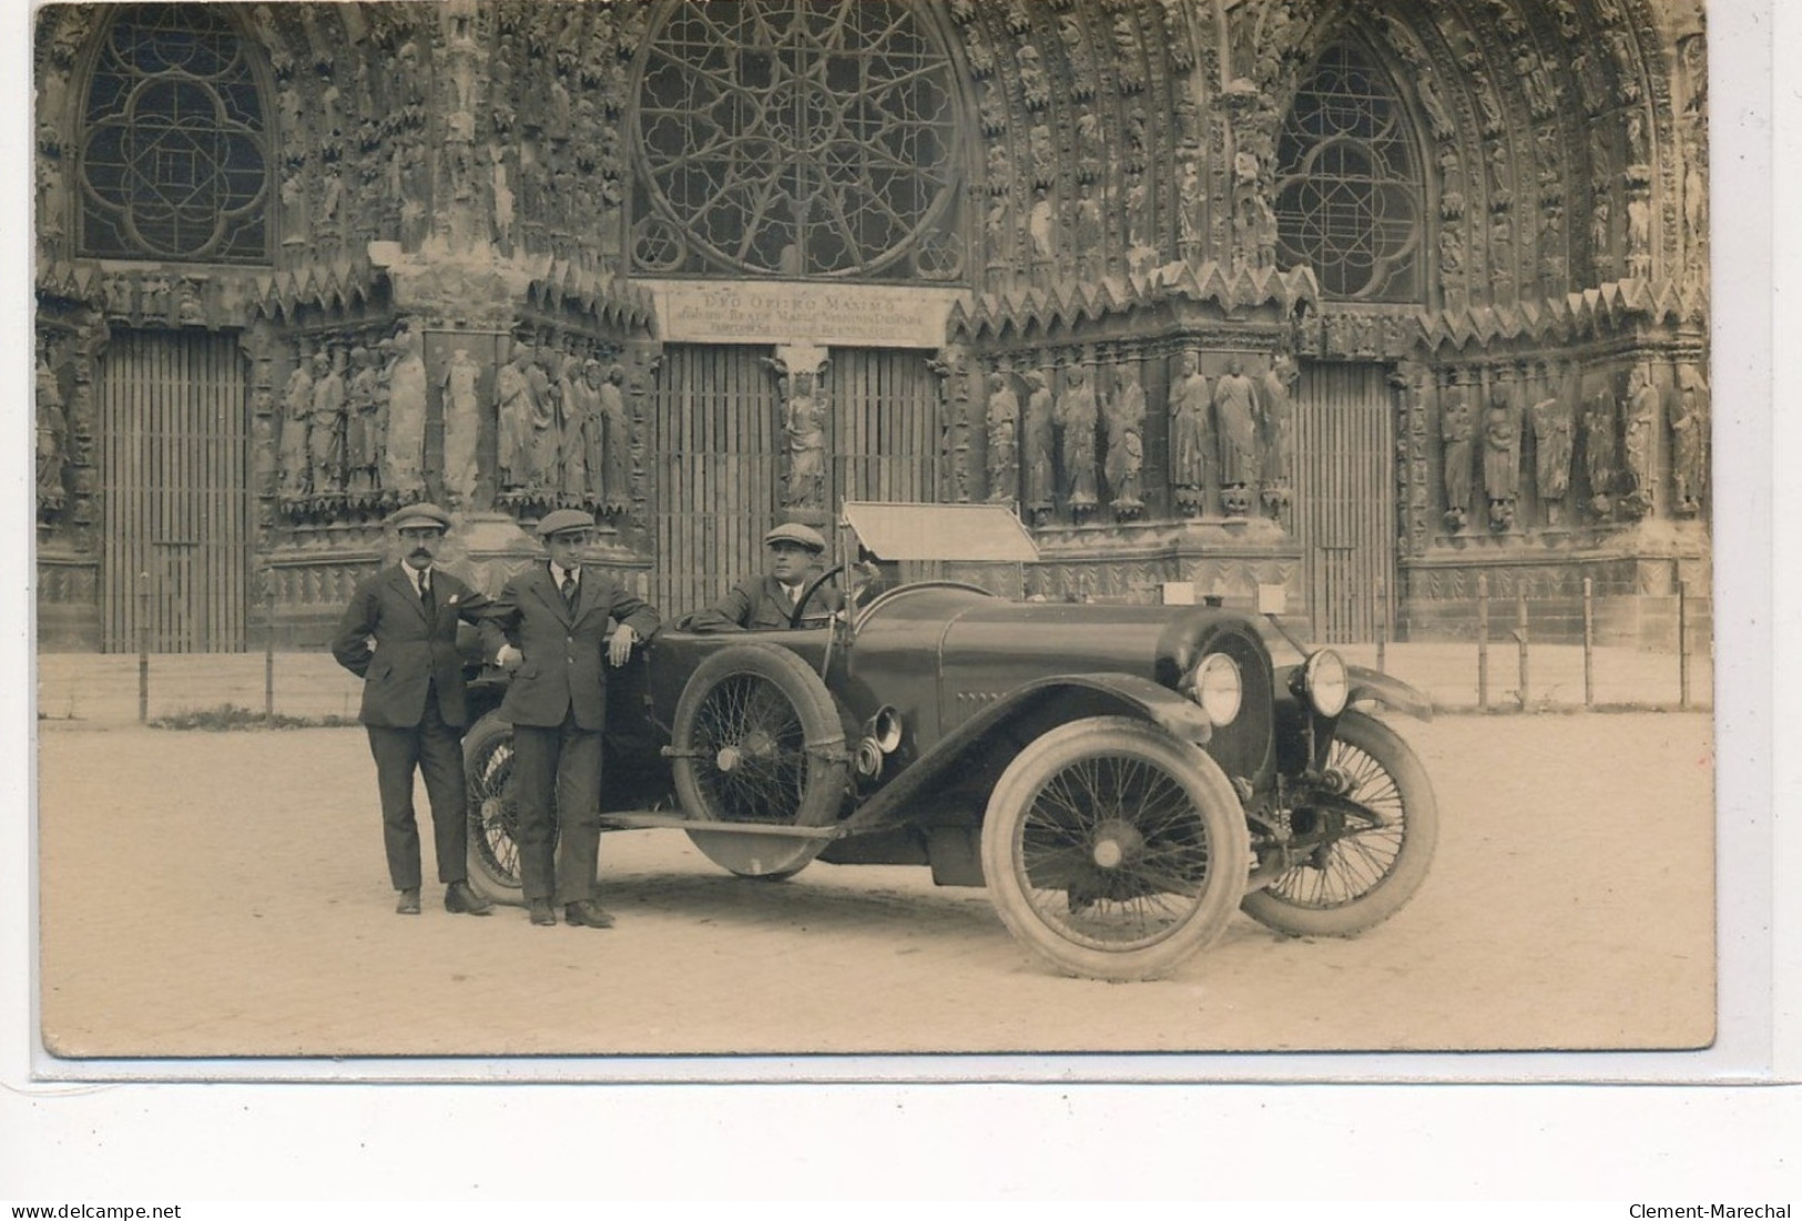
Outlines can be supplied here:
[[205, 4], [126, 5], [88, 79], [81, 249], [268, 259], [263, 106], [238, 34]]

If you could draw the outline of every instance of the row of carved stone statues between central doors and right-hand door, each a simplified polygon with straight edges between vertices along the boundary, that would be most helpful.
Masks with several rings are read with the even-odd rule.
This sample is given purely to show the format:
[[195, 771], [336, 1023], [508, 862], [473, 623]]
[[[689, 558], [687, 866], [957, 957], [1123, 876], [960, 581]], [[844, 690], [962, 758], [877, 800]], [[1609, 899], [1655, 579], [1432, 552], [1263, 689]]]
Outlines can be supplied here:
[[[1110, 385], [1101, 385], [1101, 373], [1072, 366], [1056, 393], [1051, 369], [1025, 369], [1018, 378], [1024, 405], [1011, 373], [987, 378], [989, 499], [1018, 499], [1042, 524], [1061, 497], [1079, 524], [1101, 508], [1105, 488], [1115, 520], [1141, 517], [1148, 402], [1137, 369], [1117, 366]], [[1166, 402], [1169, 483], [1180, 513], [1198, 517], [1211, 483], [1220, 486], [1227, 517], [1245, 517], [1258, 502], [1272, 515], [1288, 504], [1294, 380], [1287, 355], [1256, 380], [1233, 357], [1209, 385], [1200, 357], [1182, 353]]]

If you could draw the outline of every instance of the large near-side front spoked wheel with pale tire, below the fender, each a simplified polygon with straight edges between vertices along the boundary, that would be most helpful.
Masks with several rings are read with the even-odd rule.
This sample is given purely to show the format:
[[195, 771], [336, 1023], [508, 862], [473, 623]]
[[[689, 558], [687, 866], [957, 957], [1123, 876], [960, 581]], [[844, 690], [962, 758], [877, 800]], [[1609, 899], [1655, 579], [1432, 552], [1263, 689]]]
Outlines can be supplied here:
[[982, 823], [1002, 922], [1060, 971], [1099, 980], [1164, 976], [1209, 945], [1247, 868], [1245, 814], [1218, 764], [1130, 717], [1027, 746]]

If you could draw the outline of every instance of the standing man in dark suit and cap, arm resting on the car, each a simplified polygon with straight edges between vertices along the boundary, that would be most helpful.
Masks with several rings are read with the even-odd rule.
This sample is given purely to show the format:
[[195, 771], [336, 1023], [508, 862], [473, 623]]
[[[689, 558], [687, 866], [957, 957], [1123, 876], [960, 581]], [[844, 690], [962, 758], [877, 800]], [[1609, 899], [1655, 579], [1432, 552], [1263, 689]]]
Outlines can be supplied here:
[[[595, 519], [557, 510], [539, 522], [550, 564], [533, 564], [501, 591], [487, 629], [505, 636], [496, 661], [514, 670], [501, 717], [514, 722], [519, 873], [533, 924], [564, 920], [604, 929], [595, 902], [600, 854], [600, 733], [607, 717], [605, 661], [623, 666], [633, 645], [658, 630], [658, 612], [604, 573], [584, 567]], [[607, 621], [620, 627], [607, 638]]]

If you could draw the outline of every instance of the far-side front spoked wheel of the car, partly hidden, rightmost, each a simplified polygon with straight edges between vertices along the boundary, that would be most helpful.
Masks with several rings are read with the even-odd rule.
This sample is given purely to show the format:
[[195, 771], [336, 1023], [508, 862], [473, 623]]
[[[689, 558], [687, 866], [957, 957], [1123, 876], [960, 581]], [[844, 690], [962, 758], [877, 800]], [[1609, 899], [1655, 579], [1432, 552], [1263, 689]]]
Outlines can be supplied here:
[[1438, 845], [1427, 769], [1380, 720], [1341, 717], [1326, 773], [1337, 791], [1288, 803], [1294, 863], [1242, 904], [1279, 933], [1352, 936], [1382, 924], [1420, 890]]

